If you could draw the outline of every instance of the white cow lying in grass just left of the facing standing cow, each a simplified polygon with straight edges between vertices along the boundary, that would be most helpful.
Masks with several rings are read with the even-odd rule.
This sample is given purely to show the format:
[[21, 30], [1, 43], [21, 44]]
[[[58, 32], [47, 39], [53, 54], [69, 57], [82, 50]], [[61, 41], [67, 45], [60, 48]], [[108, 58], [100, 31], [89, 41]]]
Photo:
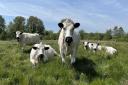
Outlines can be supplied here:
[[30, 52], [30, 62], [35, 66], [41, 61], [47, 61], [48, 58], [53, 58], [58, 53], [50, 45], [34, 44]]

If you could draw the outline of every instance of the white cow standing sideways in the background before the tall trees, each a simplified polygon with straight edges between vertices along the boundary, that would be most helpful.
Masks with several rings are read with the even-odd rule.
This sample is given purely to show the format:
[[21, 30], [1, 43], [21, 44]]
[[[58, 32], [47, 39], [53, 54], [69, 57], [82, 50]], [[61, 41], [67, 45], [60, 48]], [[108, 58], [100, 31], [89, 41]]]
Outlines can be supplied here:
[[37, 33], [23, 33], [16, 31], [16, 39], [20, 45], [25, 46], [26, 44], [36, 44], [40, 42], [40, 35]]

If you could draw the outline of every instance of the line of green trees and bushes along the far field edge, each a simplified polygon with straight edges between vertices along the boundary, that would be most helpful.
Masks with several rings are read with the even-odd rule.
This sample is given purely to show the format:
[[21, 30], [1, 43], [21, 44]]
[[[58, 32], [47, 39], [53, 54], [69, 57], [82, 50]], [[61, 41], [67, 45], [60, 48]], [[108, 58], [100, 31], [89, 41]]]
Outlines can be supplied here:
[[[29, 33], [39, 33], [42, 35], [43, 39], [47, 40], [56, 40], [59, 35], [59, 31], [54, 33], [52, 30], [46, 30], [43, 21], [36, 16], [30, 16], [27, 19], [22, 16], [16, 16], [13, 21], [7, 25], [5, 19], [0, 15], [0, 40], [15, 39], [15, 32], [17, 30]], [[106, 30], [105, 33], [88, 33], [83, 29], [80, 30], [79, 33], [82, 40], [128, 41], [128, 33], [124, 31], [123, 27], [118, 26]]]

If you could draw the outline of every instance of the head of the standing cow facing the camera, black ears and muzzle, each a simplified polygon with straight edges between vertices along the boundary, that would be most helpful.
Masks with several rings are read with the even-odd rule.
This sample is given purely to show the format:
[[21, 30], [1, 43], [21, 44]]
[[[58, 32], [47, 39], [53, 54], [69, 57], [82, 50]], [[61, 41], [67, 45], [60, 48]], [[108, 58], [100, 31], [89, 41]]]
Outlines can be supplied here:
[[80, 26], [80, 23], [74, 23], [71, 19], [63, 19], [58, 26], [64, 30], [65, 42], [70, 45], [73, 42], [74, 29]]

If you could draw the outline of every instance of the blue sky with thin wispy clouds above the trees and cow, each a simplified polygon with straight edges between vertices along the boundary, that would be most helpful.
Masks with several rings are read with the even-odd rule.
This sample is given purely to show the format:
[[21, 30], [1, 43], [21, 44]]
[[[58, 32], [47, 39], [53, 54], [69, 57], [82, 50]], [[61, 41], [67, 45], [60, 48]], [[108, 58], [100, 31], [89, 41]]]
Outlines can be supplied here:
[[79, 29], [86, 32], [105, 32], [114, 26], [128, 32], [128, 0], [0, 0], [0, 15], [6, 23], [15, 16], [37, 16], [54, 32], [63, 18], [80, 22]]

